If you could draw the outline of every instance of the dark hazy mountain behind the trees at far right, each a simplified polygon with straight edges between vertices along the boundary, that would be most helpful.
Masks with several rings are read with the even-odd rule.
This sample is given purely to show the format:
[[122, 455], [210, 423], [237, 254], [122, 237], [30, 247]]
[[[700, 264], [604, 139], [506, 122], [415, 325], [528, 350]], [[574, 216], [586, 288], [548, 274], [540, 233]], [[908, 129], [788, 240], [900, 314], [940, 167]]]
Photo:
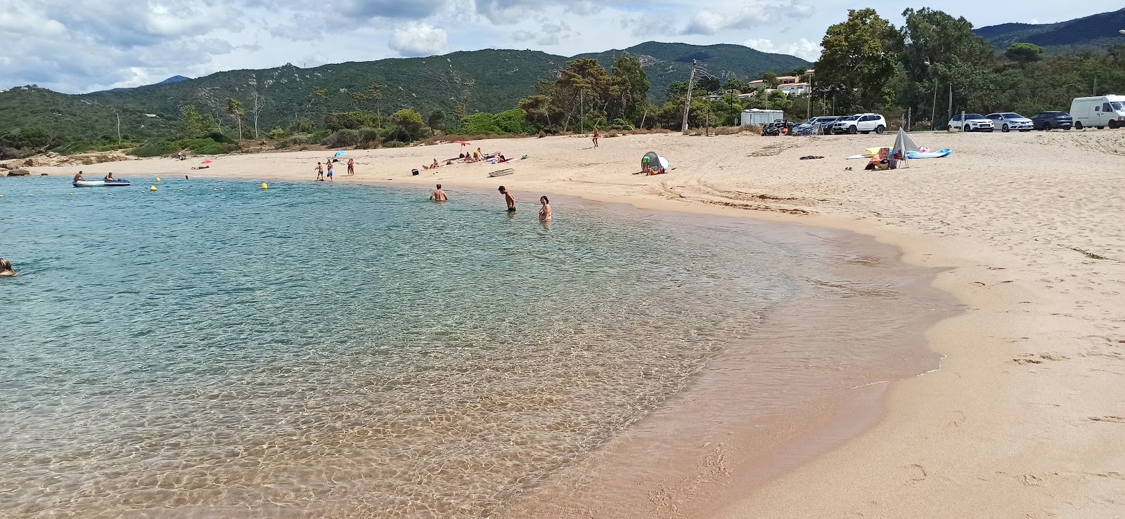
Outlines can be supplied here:
[[1058, 24], [1001, 24], [973, 30], [998, 51], [1014, 43], [1030, 43], [1050, 53], [1066, 53], [1084, 48], [1107, 48], [1125, 44], [1125, 9], [1088, 16]]

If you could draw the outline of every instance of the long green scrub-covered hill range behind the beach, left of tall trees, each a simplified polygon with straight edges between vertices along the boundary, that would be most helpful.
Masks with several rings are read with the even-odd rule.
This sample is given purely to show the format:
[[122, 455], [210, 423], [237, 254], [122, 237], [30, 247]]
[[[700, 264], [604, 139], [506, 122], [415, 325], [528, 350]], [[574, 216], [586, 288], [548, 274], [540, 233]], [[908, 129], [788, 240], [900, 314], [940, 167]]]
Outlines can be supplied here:
[[[626, 52], [639, 56], [644, 63], [652, 83], [650, 97], [654, 101], [664, 100], [673, 81], [687, 79], [692, 60], [704, 63], [706, 70], [719, 78], [757, 79], [765, 72], [784, 73], [795, 66], [809, 65], [798, 57], [766, 54], [740, 45], [695, 46], [656, 42], [575, 57], [594, 57], [610, 69], [613, 58]], [[456, 108], [465, 108], [469, 113], [497, 112], [515, 108], [520, 99], [534, 94], [536, 84], [557, 78], [558, 71], [569, 60], [538, 51], [485, 49], [443, 56], [338, 63], [313, 69], [286, 64], [264, 70], [218, 72], [197, 79], [173, 76], [158, 84], [80, 95], [44, 89], [16, 94], [2, 92], [0, 113], [4, 117], [0, 117], [0, 135], [26, 126], [39, 126], [83, 138], [97, 138], [107, 131], [106, 121], [114, 110], [122, 113], [123, 133], [141, 135], [153, 127], [174, 122], [188, 104], [195, 104], [199, 111], [209, 112], [228, 126], [232, 121], [224, 112], [227, 98], [243, 103], [246, 118], [252, 124], [255, 94], [259, 103], [258, 127], [262, 131], [286, 127], [296, 117], [309, 117], [320, 122], [328, 112], [357, 108], [378, 108], [385, 115], [403, 108], [413, 108], [423, 115], [438, 109], [451, 115]], [[378, 106], [375, 101], [358, 104], [350, 94], [366, 93], [372, 83], [381, 88]], [[315, 98], [314, 89], [325, 89], [326, 99]], [[35, 98], [32, 104], [20, 103], [21, 99], [32, 97]], [[66, 131], [66, 128], [73, 131]]]

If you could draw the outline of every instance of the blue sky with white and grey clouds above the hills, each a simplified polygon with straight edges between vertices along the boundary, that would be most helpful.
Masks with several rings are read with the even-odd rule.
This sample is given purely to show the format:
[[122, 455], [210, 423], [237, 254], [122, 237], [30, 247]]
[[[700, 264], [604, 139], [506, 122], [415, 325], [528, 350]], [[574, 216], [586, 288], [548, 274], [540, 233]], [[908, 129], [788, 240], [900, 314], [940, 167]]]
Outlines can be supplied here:
[[[976, 27], [1050, 24], [1119, 0], [912, 3], [868, 0], [896, 25], [908, 7]], [[573, 56], [648, 42], [740, 44], [809, 61], [844, 0], [0, 0], [0, 89], [66, 93], [235, 69], [413, 57], [480, 48]]]

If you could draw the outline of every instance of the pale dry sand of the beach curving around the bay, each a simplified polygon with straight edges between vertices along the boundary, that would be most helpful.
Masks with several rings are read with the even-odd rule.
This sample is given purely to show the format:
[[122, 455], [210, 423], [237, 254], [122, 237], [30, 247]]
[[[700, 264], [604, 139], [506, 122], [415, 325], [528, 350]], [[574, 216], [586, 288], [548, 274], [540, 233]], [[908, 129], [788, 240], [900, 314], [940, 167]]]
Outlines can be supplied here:
[[[927, 331], [947, 355], [943, 368], [894, 383], [878, 424], [782, 475], [748, 485], [737, 467], [722, 474], [735, 498], [721, 515], [1125, 517], [1125, 133], [916, 134], [921, 146], [955, 152], [890, 172], [843, 160], [893, 138], [644, 135], [596, 149], [582, 137], [482, 140], [474, 145], [486, 152], [530, 157], [500, 179], [487, 173], [504, 166], [489, 164], [411, 176], [460, 146], [351, 151], [359, 174], [343, 176], [341, 164], [336, 181], [441, 182], [454, 200], [457, 186], [504, 184], [529, 210], [541, 193], [564, 193], [799, 221], [874, 236], [909, 263], [952, 266], [935, 285], [968, 311]], [[630, 174], [649, 151], [675, 171]], [[312, 180], [327, 155], [223, 156], [197, 172], [199, 160], [166, 158], [83, 169]]]

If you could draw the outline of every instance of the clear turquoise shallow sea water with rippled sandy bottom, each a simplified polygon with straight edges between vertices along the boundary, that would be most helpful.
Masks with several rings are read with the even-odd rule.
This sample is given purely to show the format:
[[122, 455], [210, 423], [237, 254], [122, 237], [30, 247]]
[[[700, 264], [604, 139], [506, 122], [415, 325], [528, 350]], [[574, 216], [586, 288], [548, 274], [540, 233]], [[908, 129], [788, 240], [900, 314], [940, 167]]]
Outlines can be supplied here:
[[0, 517], [487, 517], [802, 290], [708, 217], [2, 181]]

